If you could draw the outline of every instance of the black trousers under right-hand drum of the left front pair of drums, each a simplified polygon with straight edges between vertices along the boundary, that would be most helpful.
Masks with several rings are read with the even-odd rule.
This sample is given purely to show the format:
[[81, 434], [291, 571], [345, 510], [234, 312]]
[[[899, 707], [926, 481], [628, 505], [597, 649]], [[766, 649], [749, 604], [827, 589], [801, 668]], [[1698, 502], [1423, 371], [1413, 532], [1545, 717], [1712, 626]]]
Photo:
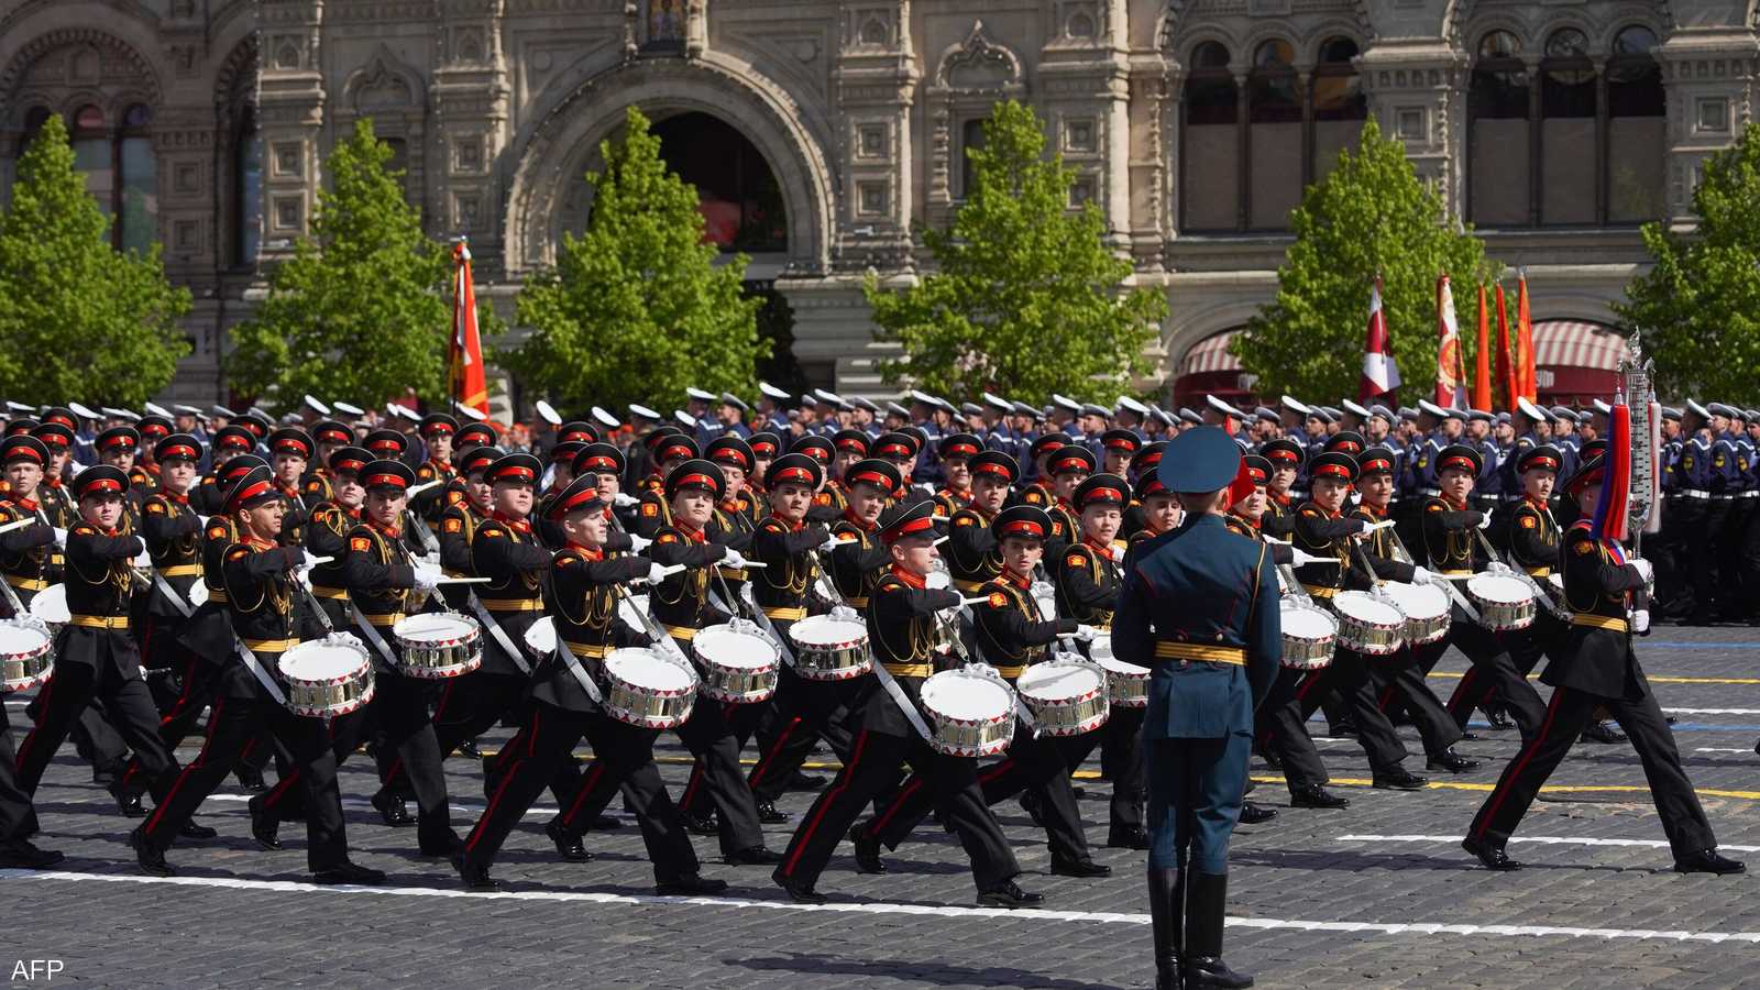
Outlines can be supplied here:
[[[415, 791], [415, 840], [424, 851], [445, 851], [452, 842], [452, 810], [447, 800], [445, 773], [440, 770], [440, 745], [428, 717], [428, 699], [433, 685], [408, 678], [382, 666], [373, 678], [373, 701], [359, 712], [331, 719], [327, 731], [331, 756], [341, 766], [368, 736], [380, 736], [396, 754]], [[304, 816], [303, 773], [294, 768], [260, 798], [260, 810], [276, 821], [296, 821]]]

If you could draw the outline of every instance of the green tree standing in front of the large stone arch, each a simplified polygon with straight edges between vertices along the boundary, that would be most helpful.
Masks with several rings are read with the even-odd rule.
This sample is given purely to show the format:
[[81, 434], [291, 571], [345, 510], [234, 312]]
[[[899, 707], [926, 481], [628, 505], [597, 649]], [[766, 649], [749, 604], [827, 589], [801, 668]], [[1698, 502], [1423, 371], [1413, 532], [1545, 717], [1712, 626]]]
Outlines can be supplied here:
[[667, 171], [641, 111], [600, 153], [586, 233], [563, 236], [556, 266], [521, 289], [516, 315], [532, 335], [502, 363], [565, 409], [671, 409], [686, 386], [752, 395], [769, 342], [760, 299], [741, 287], [746, 255], [718, 262], [697, 188]]

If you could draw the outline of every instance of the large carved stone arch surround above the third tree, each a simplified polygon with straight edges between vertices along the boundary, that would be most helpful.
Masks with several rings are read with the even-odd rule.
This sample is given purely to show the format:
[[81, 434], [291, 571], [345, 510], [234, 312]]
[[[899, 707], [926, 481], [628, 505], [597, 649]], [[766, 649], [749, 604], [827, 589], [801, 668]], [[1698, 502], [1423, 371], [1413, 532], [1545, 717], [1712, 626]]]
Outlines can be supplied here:
[[517, 144], [503, 231], [510, 275], [554, 261], [558, 213], [572, 183], [584, 183], [598, 143], [623, 125], [634, 106], [644, 113], [700, 111], [739, 129], [764, 155], [781, 185], [788, 213], [788, 264], [824, 271], [831, 254], [834, 185], [822, 144], [801, 109], [750, 67], [697, 60], [644, 58], [600, 72], [546, 113]]

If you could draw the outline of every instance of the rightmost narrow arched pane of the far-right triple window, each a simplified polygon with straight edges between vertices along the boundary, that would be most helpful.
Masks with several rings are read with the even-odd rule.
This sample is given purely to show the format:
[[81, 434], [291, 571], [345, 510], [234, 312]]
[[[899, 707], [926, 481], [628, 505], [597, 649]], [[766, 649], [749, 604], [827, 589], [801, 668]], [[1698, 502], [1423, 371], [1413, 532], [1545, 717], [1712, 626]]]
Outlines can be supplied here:
[[1640, 224], [1663, 215], [1661, 67], [1656, 33], [1633, 25], [1614, 35], [1607, 60], [1607, 222]]

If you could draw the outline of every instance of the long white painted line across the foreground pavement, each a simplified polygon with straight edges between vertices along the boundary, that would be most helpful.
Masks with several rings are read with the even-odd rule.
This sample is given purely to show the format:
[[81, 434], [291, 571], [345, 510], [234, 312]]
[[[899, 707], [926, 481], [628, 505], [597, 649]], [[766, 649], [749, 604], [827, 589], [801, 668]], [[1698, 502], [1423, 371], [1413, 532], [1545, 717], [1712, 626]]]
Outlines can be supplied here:
[[[628, 904], [628, 905], [674, 905], [674, 907], [718, 907], [736, 911], [801, 911], [827, 914], [915, 914], [928, 918], [972, 918], [972, 920], [1012, 920], [1012, 921], [1072, 921], [1098, 925], [1148, 925], [1148, 914], [1123, 914], [1104, 911], [1007, 911], [1000, 907], [952, 907], [928, 904], [790, 904], [787, 900], [743, 900], [736, 897], [656, 897], [641, 893], [586, 893], [586, 891], [495, 891], [470, 893], [463, 890], [438, 890], [419, 886], [320, 886], [292, 881], [245, 881], [232, 877], [144, 877], [121, 874], [74, 874], [65, 870], [0, 870], [0, 879], [19, 881], [99, 881], [132, 884], [169, 884], [169, 886], [206, 886], [225, 890], [255, 890], [268, 893], [334, 893], [343, 897], [444, 897], [456, 900], [547, 900], [563, 904]], [[1760, 942], [1760, 932], [1688, 932], [1661, 928], [1566, 928], [1554, 925], [1427, 925], [1427, 923], [1382, 923], [1382, 921], [1301, 921], [1283, 918], [1228, 918], [1230, 928], [1294, 928], [1302, 932], [1357, 932], [1373, 935], [1559, 935], [1572, 939], [1663, 939], [1674, 942]]]

